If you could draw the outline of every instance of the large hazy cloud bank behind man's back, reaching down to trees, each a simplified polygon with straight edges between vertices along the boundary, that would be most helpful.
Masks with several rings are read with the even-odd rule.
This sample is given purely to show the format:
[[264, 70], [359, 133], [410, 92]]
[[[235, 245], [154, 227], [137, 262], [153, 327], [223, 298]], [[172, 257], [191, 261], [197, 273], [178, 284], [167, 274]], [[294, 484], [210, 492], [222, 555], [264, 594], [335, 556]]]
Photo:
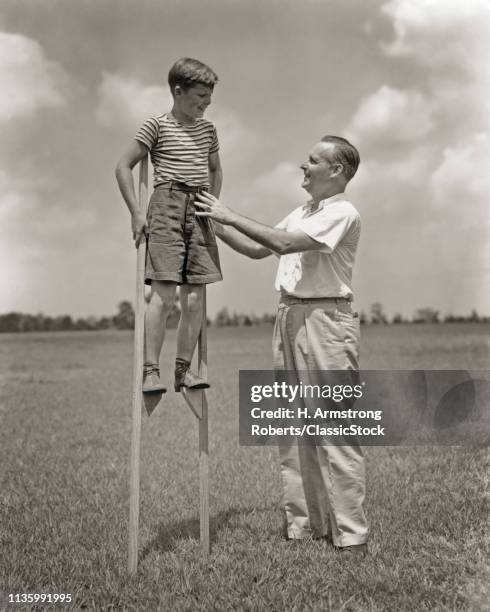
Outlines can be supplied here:
[[484, 133], [361, 163], [348, 188], [363, 218], [361, 294], [378, 292], [389, 309], [403, 311], [415, 288], [419, 305], [488, 311], [489, 164]]

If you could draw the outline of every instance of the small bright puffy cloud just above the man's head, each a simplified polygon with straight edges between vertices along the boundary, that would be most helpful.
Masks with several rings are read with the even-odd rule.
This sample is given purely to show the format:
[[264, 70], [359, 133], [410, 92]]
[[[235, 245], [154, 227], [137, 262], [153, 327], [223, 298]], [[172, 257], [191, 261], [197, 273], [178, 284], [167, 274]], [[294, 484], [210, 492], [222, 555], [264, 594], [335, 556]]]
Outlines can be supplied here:
[[364, 144], [416, 142], [434, 127], [434, 111], [434, 103], [422, 93], [382, 85], [361, 100], [347, 133]]

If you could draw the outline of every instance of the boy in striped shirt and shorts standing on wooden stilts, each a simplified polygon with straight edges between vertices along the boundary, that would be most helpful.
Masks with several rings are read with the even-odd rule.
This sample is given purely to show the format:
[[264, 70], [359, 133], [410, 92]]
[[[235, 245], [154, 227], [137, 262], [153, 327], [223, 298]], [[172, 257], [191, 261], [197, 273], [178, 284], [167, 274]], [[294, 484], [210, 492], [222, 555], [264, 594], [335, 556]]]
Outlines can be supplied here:
[[[175, 391], [203, 389], [206, 380], [189, 368], [202, 323], [205, 285], [222, 279], [212, 223], [196, 216], [196, 194], [219, 196], [222, 172], [216, 128], [203, 118], [218, 77], [191, 58], [178, 60], [168, 83], [173, 96], [170, 113], [148, 119], [121, 157], [116, 177], [131, 213], [136, 246], [148, 235], [145, 282], [151, 295], [145, 315], [143, 393], [165, 393], [159, 358], [167, 317], [180, 285], [181, 316], [177, 330]], [[136, 200], [132, 169], [150, 152], [155, 191], [147, 218]]]

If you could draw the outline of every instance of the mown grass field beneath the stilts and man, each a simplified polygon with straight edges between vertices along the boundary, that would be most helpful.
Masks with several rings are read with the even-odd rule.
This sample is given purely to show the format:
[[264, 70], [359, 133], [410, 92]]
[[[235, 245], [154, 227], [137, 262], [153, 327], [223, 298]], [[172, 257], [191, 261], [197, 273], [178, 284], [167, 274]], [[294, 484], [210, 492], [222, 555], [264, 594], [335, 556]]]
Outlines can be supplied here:
[[[362, 367], [488, 369], [489, 331], [367, 326]], [[173, 392], [143, 419], [131, 579], [132, 336], [1, 336], [0, 591], [71, 593], [77, 610], [488, 610], [486, 447], [366, 449], [371, 539], [361, 562], [342, 562], [325, 542], [284, 541], [277, 451], [238, 445], [238, 370], [270, 367], [270, 336], [209, 330], [208, 563], [195, 419]]]

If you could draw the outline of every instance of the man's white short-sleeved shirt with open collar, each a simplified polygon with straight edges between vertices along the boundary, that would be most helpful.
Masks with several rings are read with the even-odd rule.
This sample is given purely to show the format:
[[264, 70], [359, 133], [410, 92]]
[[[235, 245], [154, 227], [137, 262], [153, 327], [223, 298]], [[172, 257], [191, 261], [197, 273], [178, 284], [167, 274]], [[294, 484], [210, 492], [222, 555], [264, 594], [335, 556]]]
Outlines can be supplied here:
[[352, 270], [361, 217], [344, 193], [322, 200], [316, 210], [310, 203], [296, 208], [276, 228], [301, 230], [324, 245], [318, 250], [282, 255], [277, 291], [300, 298], [352, 299]]

